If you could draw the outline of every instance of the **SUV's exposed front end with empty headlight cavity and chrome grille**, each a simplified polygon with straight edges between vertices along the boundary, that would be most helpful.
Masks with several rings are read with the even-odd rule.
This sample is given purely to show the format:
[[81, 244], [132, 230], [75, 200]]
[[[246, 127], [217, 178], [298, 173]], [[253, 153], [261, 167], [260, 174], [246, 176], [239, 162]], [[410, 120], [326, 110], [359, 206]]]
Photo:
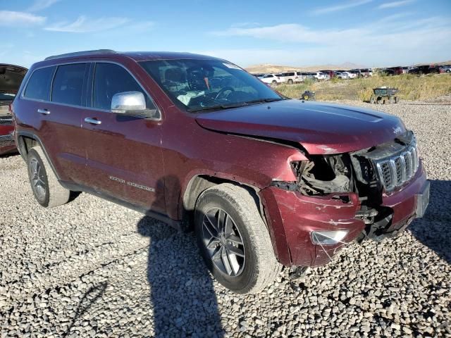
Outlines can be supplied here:
[[[304, 196], [356, 193], [361, 204], [356, 218], [367, 225], [363, 238], [377, 239], [390, 227], [393, 211], [381, 206], [383, 192], [392, 192], [410, 180], [419, 167], [418, 151], [411, 131], [388, 142], [349, 154], [309, 156], [310, 161], [292, 162], [297, 182], [276, 186]], [[275, 182], [276, 183], [276, 182]], [[362, 239], [363, 239], [362, 238]]]

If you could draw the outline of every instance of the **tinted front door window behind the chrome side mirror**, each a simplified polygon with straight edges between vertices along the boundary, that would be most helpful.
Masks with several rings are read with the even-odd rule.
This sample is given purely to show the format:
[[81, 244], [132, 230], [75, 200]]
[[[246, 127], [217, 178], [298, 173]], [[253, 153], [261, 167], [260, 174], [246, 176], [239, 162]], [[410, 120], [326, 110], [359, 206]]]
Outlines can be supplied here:
[[97, 63], [94, 75], [92, 106], [94, 108], [111, 109], [113, 95], [121, 92], [142, 92], [146, 98], [147, 108], [154, 109], [154, 104], [132, 75], [121, 65], [113, 63]]

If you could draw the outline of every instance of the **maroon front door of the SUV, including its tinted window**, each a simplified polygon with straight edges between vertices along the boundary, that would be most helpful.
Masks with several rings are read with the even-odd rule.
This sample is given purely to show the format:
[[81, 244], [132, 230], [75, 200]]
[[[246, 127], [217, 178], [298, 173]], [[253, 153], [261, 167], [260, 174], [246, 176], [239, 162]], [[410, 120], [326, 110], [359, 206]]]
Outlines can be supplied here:
[[[89, 187], [147, 210], [166, 213], [161, 118], [111, 112], [111, 99], [116, 93], [142, 92], [149, 109], [156, 108], [151, 97], [122, 65], [98, 62], [91, 73], [92, 98], [82, 119]], [[92, 120], [97, 122], [87, 122]]]

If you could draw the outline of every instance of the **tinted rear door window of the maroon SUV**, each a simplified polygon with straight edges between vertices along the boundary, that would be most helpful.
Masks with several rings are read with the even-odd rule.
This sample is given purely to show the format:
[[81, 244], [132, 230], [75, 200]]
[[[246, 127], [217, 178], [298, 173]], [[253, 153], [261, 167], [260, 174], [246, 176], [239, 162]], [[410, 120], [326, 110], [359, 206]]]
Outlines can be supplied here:
[[59, 65], [56, 70], [54, 85], [51, 89], [51, 101], [59, 104], [82, 106], [85, 70], [85, 63]]

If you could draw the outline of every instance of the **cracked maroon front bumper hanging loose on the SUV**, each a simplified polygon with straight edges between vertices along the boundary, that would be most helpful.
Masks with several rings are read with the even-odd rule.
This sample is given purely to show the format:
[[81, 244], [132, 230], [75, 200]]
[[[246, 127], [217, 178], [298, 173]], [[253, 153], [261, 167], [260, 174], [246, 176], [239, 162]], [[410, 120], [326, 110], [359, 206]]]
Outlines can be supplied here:
[[[359, 215], [361, 201], [354, 192], [306, 196], [271, 186], [261, 190], [266, 220], [280, 263], [317, 266], [328, 263], [343, 246], [354, 240], [383, 239], [400, 233], [428, 204], [428, 181], [423, 165], [407, 185], [383, 194], [385, 214], [368, 224]], [[337, 232], [345, 236], [336, 244], [315, 244], [314, 232]]]

